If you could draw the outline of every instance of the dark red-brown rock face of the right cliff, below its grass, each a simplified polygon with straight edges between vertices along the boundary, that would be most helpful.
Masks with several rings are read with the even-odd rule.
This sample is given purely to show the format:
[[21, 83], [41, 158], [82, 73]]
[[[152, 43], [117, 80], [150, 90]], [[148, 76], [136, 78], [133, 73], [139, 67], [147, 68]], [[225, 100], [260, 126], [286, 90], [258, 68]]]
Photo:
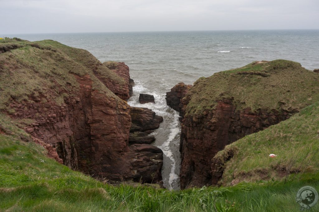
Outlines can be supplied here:
[[[187, 100], [183, 100], [184, 108]], [[270, 125], [286, 120], [297, 110], [235, 110], [232, 99], [218, 101], [212, 110], [187, 115], [182, 120], [180, 151], [182, 165], [181, 188], [216, 185], [221, 172], [211, 161], [224, 147], [245, 135], [256, 133]]]

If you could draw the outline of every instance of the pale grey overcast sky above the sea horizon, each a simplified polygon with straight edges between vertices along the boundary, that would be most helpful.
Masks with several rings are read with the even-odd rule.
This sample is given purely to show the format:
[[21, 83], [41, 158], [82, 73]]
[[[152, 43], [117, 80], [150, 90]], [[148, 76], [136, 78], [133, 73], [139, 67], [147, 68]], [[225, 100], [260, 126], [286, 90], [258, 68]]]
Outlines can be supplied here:
[[0, 0], [1, 34], [319, 29], [319, 0]]

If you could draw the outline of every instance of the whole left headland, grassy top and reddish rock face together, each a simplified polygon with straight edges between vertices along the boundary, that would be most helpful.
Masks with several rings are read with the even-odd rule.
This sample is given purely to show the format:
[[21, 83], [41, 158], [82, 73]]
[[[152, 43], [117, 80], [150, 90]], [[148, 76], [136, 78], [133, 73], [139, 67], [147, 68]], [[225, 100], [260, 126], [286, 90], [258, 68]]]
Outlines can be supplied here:
[[[21, 42], [21, 46], [26, 45], [24, 42], [27, 41]], [[43, 43], [50, 45], [50, 49], [41, 49], [41, 44], [36, 49], [28, 47], [34, 53], [32, 57], [49, 55], [42, 58], [42, 66], [30, 68], [16, 59], [19, 52], [0, 55], [0, 71], [8, 72], [5, 76], [9, 76], [0, 81], [12, 86], [2, 93], [8, 93], [5, 96], [8, 101], [0, 102], [5, 107], [2, 112], [24, 123], [23, 129], [48, 150], [49, 157], [74, 170], [112, 181], [159, 182], [163, 152], [147, 144], [129, 146], [130, 106], [122, 100], [130, 96], [129, 68], [124, 63], [112, 62], [115, 68], [110, 71], [85, 50], [53, 41]], [[5, 57], [10, 57], [11, 62], [3, 63]], [[25, 56], [28, 57], [31, 56]], [[59, 59], [55, 60], [57, 57]], [[61, 67], [59, 72], [58, 67]], [[18, 75], [19, 80], [24, 70], [39, 79], [30, 86], [27, 82], [18, 85], [25, 90], [14, 96], [12, 91], [17, 88], [13, 88], [16, 85], [10, 76]], [[41, 74], [46, 72], [56, 75], [42, 78]], [[26, 96], [19, 100], [17, 97], [23, 91]]]

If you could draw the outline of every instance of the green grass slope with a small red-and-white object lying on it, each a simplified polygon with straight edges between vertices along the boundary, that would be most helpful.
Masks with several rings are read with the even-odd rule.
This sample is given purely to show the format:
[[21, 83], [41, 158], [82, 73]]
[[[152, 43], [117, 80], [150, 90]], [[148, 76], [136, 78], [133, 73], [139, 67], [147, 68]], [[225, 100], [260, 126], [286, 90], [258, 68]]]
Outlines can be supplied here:
[[[229, 152], [221, 179], [224, 185], [240, 181], [256, 182], [289, 178], [300, 174], [319, 173], [319, 102], [295, 114], [286, 121], [235, 141], [218, 152], [216, 159], [224, 161]], [[269, 154], [277, 157], [271, 158]]]

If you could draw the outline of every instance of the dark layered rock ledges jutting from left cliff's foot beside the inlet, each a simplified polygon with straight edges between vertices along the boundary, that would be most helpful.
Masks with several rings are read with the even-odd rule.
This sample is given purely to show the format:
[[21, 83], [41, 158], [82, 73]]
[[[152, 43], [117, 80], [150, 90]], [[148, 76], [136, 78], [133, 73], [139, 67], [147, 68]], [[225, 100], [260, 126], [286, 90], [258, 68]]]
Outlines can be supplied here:
[[[161, 168], [163, 165], [163, 151], [160, 148], [149, 145], [155, 140], [148, 134], [159, 128], [163, 117], [158, 116], [147, 108], [130, 108], [131, 128], [129, 148], [132, 153], [129, 160], [132, 161], [129, 173], [134, 173], [134, 181], [143, 183], [160, 183], [162, 179]], [[136, 154], [138, 152], [138, 154]]]

